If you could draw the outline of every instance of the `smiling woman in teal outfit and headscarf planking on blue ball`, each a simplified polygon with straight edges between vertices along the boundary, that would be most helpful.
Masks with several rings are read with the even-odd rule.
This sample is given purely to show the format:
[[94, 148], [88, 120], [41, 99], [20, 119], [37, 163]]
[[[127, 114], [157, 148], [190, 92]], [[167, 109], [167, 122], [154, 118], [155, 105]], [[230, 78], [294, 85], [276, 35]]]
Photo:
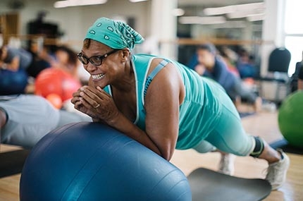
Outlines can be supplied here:
[[273, 190], [285, 181], [289, 159], [249, 136], [223, 88], [182, 64], [130, 50], [143, 38], [125, 23], [99, 18], [78, 58], [89, 85], [73, 94], [75, 109], [106, 123], [170, 160], [175, 149], [215, 147], [266, 159]]

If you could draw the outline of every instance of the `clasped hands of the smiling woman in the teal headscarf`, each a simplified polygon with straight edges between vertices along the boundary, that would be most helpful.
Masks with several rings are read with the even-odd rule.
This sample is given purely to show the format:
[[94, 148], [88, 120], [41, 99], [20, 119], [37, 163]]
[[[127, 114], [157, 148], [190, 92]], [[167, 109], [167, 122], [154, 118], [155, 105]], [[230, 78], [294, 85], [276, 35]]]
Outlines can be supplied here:
[[94, 121], [103, 121], [109, 125], [120, 114], [113, 99], [101, 87], [83, 86], [73, 93], [71, 102], [75, 109], [91, 116]]

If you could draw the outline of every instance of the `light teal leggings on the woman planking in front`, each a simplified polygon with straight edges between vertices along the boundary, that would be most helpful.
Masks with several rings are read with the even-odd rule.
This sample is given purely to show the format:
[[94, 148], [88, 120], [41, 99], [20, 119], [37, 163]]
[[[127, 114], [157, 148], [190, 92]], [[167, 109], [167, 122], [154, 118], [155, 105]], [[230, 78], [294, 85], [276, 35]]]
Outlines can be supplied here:
[[200, 153], [221, 150], [238, 156], [247, 156], [254, 150], [254, 146], [254, 137], [245, 133], [235, 106], [232, 102], [225, 102], [217, 126], [193, 148]]

